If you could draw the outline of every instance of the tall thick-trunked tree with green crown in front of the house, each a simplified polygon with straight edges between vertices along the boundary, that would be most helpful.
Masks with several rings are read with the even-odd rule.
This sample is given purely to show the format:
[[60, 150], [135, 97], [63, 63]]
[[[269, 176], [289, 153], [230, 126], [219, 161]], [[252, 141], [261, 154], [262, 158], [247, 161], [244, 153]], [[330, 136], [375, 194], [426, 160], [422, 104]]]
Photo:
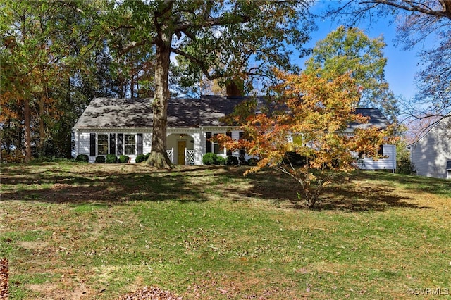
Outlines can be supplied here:
[[[313, 26], [308, 6], [299, 1], [135, 1], [125, 0], [113, 11], [114, 25], [130, 30], [123, 51], [144, 46], [155, 53], [155, 95], [152, 153], [148, 163], [169, 168], [166, 122], [171, 54], [183, 56], [193, 70], [218, 77], [264, 75], [268, 65], [292, 67], [292, 50]], [[293, 48], [285, 47], [287, 44]], [[250, 61], [255, 67], [249, 68]], [[244, 75], [246, 73], [246, 75]]]

